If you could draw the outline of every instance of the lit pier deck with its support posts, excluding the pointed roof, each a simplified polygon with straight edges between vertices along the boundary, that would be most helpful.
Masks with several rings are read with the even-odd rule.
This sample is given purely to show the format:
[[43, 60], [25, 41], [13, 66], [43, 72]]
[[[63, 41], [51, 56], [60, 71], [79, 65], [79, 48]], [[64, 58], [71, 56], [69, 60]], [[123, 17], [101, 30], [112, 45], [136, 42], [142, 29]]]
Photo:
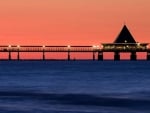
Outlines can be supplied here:
[[[120, 53], [130, 53], [130, 60], [137, 60], [137, 52], [146, 52], [147, 60], [150, 60], [150, 49], [147, 48], [147, 44], [102, 44], [99, 46], [0, 46], [0, 53], [8, 53], [8, 59], [12, 60], [12, 53], [17, 53], [16, 60], [21, 60], [20, 53], [42, 53], [41, 60], [46, 59], [46, 53], [66, 53], [66, 60], [71, 59], [71, 53], [92, 53], [92, 60], [105, 60], [104, 53], [113, 52], [114, 60], [120, 60]], [[97, 56], [96, 56], [97, 55]], [[97, 59], [96, 59], [97, 58]], [[57, 58], [55, 58], [57, 59]], [[1, 59], [2, 60], [2, 59]], [[31, 59], [30, 59], [31, 60]]]

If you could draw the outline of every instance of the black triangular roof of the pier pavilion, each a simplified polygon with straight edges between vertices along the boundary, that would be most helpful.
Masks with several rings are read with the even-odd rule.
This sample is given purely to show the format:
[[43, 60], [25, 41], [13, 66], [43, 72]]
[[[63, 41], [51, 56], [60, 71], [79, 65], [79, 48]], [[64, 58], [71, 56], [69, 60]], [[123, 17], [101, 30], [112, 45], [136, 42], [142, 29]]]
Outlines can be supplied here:
[[127, 26], [124, 25], [114, 43], [136, 43]]

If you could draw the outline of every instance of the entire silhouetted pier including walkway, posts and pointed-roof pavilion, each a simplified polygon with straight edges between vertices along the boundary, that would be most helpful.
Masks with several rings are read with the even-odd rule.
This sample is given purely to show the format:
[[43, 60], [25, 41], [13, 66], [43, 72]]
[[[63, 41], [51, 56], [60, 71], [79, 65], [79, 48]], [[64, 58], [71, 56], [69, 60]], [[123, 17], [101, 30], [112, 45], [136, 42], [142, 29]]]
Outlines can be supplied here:
[[[58, 54], [66, 53], [67, 54], [66, 60], [74, 60], [71, 59], [71, 53], [90, 52], [93, 54], [92, 59], [99, 60], [99, 61], [104, 60], [103, 54], [105, 52], [113, 52], [114, 60], [120, 60], [120, 53], [130, 53], [130, 60], [137, 60], [137, 54], [136, 54], [137, 52], [146, 52], [147, 60], [150, 60], [150, 48], [148, 47], [148, 43], [136, 42], [126, 25], [123, 26], [121, 32], [119, 33], [118, 37], [115, 39], [113, 43], [101, 43], [99, 45], [92, 45], [92, 46], [0, 45], [0, 52], [8, 53], [8, 59], [6, 60], [12, 60], [11, 53], [17, 53], [16, 60], [21, 60], [20, 53], [27, 53], [27, 52], [42, 53], [41, 60], [48, 60], [46, 59], [45, 53], [52, 53], [52, 52], [57, 52]], [[97, 59], [96, 59], [96, 55], [97, 55]]]

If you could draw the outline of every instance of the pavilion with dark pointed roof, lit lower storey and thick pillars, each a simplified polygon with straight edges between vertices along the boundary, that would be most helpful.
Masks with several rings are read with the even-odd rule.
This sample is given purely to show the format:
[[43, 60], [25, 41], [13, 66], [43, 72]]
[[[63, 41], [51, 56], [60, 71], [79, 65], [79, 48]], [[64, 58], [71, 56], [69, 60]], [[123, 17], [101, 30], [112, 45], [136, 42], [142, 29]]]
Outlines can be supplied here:
[[136, 60], [136, 52], [147, 51], [148, 43], [138, 43], [135, 41], [127, 26], [124, 25], [114, 43], [104, 43], [103, 52], [114, 52], [114, 60], [120, 60], [121, 52], [130, 52], [131, 60]]

